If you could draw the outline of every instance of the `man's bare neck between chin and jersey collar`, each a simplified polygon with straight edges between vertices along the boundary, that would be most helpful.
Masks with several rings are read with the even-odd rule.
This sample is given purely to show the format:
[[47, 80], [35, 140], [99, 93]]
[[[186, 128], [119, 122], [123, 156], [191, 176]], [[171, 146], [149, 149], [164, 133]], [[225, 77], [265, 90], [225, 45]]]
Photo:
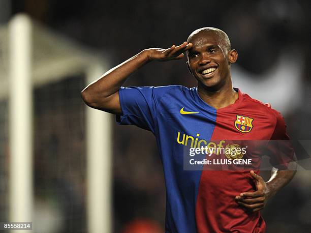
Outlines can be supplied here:
[[231, 81], [216, 91], [209, 91], [198, 86], [198, 94], [202, 100], [216, 109], [227, 107], [238, 99], [238, 93], [232, 88]]

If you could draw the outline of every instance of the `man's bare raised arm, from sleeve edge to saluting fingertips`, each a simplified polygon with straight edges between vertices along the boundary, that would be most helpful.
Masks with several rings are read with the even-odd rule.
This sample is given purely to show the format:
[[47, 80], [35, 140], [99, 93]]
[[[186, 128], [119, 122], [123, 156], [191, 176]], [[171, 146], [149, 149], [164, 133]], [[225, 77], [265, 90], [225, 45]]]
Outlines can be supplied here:
[[118, 90], [131, 74], [151, 61], [181, 59], [183, 52], [190, 49], [191, 46], [191, 43], [184, 42], [179, 46], [173, 45], [167, 49], [145, 49], [88, 84], [81, 92], [82, 99], [92, 108], [113, 114], [121, 114]]

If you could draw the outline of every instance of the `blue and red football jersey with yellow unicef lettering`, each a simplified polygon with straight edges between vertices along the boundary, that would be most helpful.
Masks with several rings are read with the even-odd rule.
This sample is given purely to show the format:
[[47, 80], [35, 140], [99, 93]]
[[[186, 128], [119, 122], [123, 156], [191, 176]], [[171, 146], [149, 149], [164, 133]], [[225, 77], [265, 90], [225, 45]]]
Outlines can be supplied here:
[[197, 88], [129, 86], [119, 90], [119, 124], [149, 130], [157, 140], [167, 192], [166, 232], [265, 231], [260, 212], [247, 213], [235, 201], [241, 192], [256, 189], [249, 170], [206, 170], [204, 166], [185, 170], [183, 165], [187, 143], [289, 139], [281, 114], [235, 90], [236, 102], [220, 109], [204, 102]]

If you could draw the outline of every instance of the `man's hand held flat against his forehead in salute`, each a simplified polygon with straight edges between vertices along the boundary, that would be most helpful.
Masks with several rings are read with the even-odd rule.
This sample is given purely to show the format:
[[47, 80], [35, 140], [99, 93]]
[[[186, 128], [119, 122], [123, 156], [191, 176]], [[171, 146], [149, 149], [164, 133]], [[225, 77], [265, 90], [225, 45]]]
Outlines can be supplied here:
[[170, 48], [149, 48], [146, 49], [148, 61], [170, 61], [182, 59], [183, 52], [190, 49], [192, 43], [183, 42], [181, 45], [172, 45]]

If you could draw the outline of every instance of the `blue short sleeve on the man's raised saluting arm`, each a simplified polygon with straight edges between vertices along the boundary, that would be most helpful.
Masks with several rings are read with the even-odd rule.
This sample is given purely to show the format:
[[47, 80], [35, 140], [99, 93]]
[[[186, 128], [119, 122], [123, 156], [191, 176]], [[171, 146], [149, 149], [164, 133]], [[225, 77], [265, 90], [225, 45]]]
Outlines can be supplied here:
[[119, 89], [122, 114], [117, 115], [121, 125], [136, 125], [154, 132], [154, 86], [128, 86]]

